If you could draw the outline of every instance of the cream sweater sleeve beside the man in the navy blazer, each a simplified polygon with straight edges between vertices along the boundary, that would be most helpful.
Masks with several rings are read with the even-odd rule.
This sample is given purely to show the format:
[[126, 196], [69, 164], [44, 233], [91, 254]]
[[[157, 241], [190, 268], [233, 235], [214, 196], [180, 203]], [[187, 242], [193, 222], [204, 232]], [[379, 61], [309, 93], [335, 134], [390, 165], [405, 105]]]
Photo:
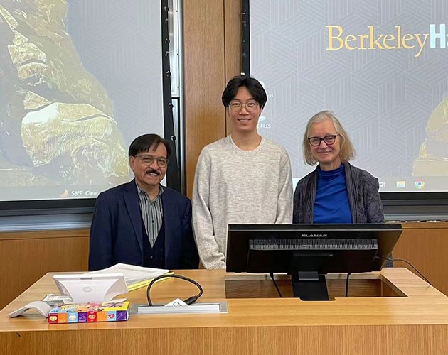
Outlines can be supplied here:
[[210, 168], [210, 157], [203, 151], [198, 158], [193, 184], [193, 234], [203, 266], [225, 268], [225, 256], [218, 248], [209, 208]]

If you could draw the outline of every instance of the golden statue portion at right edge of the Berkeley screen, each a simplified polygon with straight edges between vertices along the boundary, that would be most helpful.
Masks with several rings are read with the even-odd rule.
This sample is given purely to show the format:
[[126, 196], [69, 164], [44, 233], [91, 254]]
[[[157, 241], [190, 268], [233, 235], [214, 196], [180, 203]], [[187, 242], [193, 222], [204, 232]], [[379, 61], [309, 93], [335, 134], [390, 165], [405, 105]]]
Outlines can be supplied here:
[[426, 132], [413, 175], [448, 176], [448, 97], [432, 111]]

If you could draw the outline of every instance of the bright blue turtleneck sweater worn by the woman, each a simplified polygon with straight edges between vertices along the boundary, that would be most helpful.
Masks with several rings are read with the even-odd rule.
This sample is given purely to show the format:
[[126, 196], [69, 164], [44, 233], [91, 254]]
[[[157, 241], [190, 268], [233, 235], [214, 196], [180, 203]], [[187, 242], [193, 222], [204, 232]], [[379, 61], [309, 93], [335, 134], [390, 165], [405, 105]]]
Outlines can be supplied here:
[[313, 223], [351, 223], [344, 166], [317, 174]]

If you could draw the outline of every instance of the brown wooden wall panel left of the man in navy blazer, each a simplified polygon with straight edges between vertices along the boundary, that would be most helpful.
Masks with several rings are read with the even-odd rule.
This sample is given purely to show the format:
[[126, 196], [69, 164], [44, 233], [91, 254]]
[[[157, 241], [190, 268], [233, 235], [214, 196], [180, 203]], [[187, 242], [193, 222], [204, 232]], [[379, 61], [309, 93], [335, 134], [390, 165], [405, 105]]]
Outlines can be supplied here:
[[0, 309], [50, 271], [87, 271], [88, 253], [88, 229], [0, 234]]

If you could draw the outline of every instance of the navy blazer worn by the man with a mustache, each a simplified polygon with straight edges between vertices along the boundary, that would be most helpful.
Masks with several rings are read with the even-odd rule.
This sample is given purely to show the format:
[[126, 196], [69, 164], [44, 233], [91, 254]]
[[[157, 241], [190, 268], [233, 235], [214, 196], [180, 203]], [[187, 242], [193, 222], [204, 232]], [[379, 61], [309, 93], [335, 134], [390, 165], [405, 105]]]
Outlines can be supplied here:
[[[191, 202], [164, 187], [165, 268], [198, 268]], [[90, 227], [89, 270], [116, 263], [143, 265], [142, 214], [135, 179], [100, 193]]]

